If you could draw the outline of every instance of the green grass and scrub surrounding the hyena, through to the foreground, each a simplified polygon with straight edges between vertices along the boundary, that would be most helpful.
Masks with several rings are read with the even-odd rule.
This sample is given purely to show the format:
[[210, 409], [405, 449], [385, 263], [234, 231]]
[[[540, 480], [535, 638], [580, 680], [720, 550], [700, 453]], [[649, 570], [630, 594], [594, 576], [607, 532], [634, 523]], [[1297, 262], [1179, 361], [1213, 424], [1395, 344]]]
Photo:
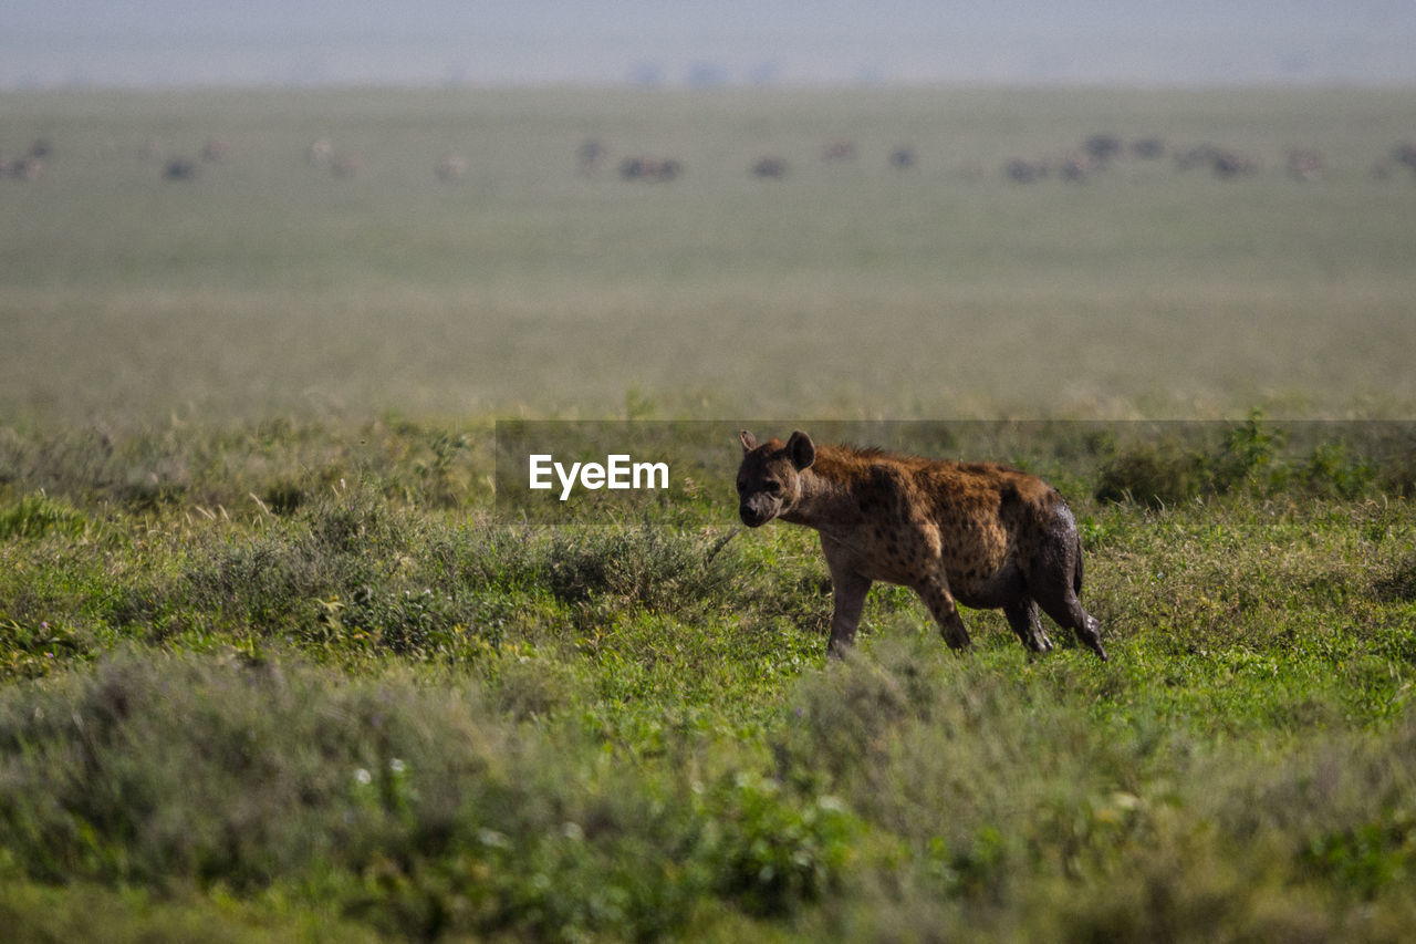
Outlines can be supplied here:
[[[1191, 445], [1266, 475], [1180, 503], [1099, 499], [1104, 455], [1076, 462], [1107, 663], [1029, 656], [997, 612], [953, 655], [882, 587], [828, 666], [804, 529], [726, 539], [716, 495], [528, 526], [474, 492], [487, 455], [418, 490], [430, 425], [270, 437], [279, 513], [227, 510], [272, 492], [231, 432], [149, 434], [205, 469], [161, 499], [52, 459], [62, 486], [0, 506], [34, 523], [0, 544], [4, 907], [37, 937], [84, 907], [174, 940], [1399, 940], [1416, 516], [1281, 473], [1303, 454], [1256, 444], [1284, 431]], [[1034, 466], [1104, 439], [971, 432]], [[355, 478], [292, 476], [355, 439]]]

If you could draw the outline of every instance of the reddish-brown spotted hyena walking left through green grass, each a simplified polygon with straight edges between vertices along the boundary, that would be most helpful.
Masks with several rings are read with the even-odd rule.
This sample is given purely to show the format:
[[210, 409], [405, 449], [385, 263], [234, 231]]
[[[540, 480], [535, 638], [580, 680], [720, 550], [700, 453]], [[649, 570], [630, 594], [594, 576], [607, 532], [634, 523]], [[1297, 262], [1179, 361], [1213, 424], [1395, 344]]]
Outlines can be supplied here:
[[1082, 609], [1082, 541], [1066, 502], [1042, 479], [991, 463], [879, 449], [783, 444], [741, 434], [738, 513], [748, 527], [775, 517], [821, 533], [835, 612], [827, 652], [855, 639], [871, 583], [918, 592], [944, 642], [969, 645], [956, 602], [1003, 608], [1022, 645], [1046, 652], [1038, 607], [1106, 658], [1100, 624]]

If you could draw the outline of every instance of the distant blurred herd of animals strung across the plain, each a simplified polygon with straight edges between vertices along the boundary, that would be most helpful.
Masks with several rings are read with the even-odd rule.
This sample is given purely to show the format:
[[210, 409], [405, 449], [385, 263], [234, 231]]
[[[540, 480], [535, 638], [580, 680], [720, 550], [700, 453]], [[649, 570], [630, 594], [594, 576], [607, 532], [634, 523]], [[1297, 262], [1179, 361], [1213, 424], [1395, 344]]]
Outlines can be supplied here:
[[[109, 146], [110, 149], [112, 146]], [[54, 145], [48, 139], [35, 139], [17, 156], [8, 156], [0, 149], [0, 177], [14, 180], [40, 180], [54, 159]], [[817, 160], [827, 164], [864, 162], [865, 147], [850, 139], [827, 140], [821, 145]], [[909, 145], [882, 149], [886, 166], [898, 172], [909, 172], [919, 166], [919, 154]], [[150, 140], [140, 156], [159, 167], [160, 177], [169, 181], [191, 181], [200, 177], [205, 164], [218, 164], [231, 156], [231, 147], [218, 137], [208, 137], [201, 147], [190, 154], [169, 153], [159, 142]], [[998, 173], [1014, 184], [1035, 184], [1046, 180], [1069, 183], [1086, 181], [1107, 173], [1127, 162], [1161, 163], [1168, 160], [1180, 172], [1208, 172], [1221, 180], [1249, 177], [1270, 167], [1281, 169], [1297, 181], [1315, 181], [1331, 173], [1331, 166], [1323, 154], [1311, 147], [1289, 147], [1277, 163], [1264, 162], [1260, 156], [1214, 143], [1178, 146], [1163, 137], [1141, 136], [1124, 139], [1112, 133], [1095, 133], [1079, 143], [1059, 149], [1049, 156], [1014, 156], [1001, 162]], [[304, 162], [313, 169], [333, 177], [358, 177], [364, 162], [351, 149], [341, 149], [329, 137], [320, 136], [304, 149]], [[582, 177], [600, 177], [609, 166], [615, 166], [617, 177], [634, 183], [667, 183], [687, 173], [687, 163], [671, 154], [623, 154], [615, 157], [613, 149], [605, 142], [586, 137], [575, 149], [576, 172]], [[457, 183], [472, 167], [466, 154], [445, 153], [430, 163], [432, 177], [442, 183]], [[766, 180], [789, 177], [794, 164], [779, 153], [762, 153], [746, 160], [743, 172]], [[970, 176], [987, 176], [987, 169], [974, 163], [969, 166]], [[1399, 174], [1416, 180], [1416, 143], [1402, 142], [1374, 160], [1368, 176], [1374, 180], [1391, 180]]]

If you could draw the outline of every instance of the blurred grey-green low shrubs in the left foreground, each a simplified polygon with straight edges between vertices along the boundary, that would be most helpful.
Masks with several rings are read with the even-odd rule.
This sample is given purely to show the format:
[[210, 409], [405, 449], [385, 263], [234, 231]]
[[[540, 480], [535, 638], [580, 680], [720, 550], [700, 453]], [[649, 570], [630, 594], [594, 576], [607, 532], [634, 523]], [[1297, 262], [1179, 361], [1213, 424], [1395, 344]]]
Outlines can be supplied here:
[[476, 686], [129, 651], [0, 695], [0, 849], [33, 882], [317, 889], [387, 933], [656, 937], [704, 897], [783, 916], [857, 819], [722, 767], [619, 765]]

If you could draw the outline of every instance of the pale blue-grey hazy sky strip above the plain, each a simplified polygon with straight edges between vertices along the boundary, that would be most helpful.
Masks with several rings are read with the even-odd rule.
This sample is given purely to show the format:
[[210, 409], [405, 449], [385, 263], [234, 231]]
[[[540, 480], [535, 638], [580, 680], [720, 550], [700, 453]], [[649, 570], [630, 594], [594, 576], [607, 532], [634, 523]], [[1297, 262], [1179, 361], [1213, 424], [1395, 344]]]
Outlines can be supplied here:
[[0, 86], [1416, 82], [1416, 0], [4, 0]]

